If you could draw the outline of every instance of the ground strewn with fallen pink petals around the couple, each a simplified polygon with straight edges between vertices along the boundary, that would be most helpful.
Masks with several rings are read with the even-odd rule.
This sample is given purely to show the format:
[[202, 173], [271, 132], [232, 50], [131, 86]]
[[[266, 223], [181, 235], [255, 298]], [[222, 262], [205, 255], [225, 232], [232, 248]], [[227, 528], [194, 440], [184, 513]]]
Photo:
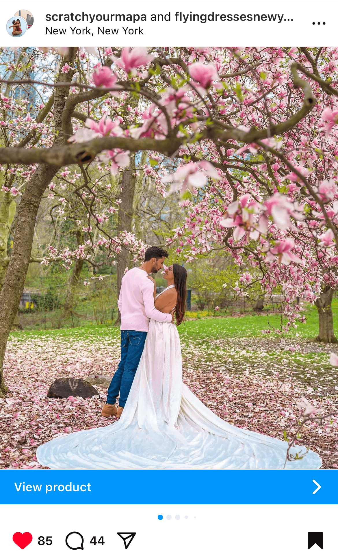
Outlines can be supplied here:
[[[297, 423], [302, 397], [325, 413], [338, 410], [338, 378], [329, 365], [329, 345], [300, 343], [300, 352], [291, 354], [270, 336], [196, 339], [187, 330], [180, 335], [184, 382], [231, 424], [283, 439], [283, 431]], [[35, 457], [38, 445], [115, 420], [100, 416], [105, 402], [100, 386], [100, 398], [87, 400], [50, 399], [46, 394], [56, 378], [113, 376], [119, 352], [119, 331], [113, 328], [11, 335], [4, 364], [11, 393], [0, 400], [0, 468], [41, 468]], [[338, 468], [338, 417], [322, 426], [305, 425], [298, 443], [317, 451], [324, 468]]]

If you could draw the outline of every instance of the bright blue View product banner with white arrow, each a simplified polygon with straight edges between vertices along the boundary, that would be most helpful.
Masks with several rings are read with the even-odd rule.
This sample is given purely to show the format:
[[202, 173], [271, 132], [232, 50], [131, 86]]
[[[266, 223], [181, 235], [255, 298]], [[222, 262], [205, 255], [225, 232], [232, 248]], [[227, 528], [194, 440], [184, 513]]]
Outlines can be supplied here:
[[124, 504], [338, 501], [338, 474], [332, 470], [6, 470], [0, 472], [0, 481], [0, 504], [100, 504], [104, 488], [112, 483], [123, 486]]

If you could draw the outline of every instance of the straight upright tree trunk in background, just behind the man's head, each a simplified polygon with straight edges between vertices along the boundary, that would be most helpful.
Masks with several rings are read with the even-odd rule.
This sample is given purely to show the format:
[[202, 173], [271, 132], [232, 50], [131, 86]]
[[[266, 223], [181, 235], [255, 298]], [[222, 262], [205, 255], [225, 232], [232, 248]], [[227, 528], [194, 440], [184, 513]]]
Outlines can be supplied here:
[[[132, 218], [133, 218], [133, 200], [136, 185], [136, 171], [135, 171], [135, 155], [131, 155], [131, 162], [128, 169], [123, 171], [122, 185], [118, 213], [117, 231], [118, 235], [123, 230], [131, 231]], [[124, 270], [131, 265], [131, 253], [122, 247], [121, 252], [117, 256], [117, 298], [120, 296], [120, 288]], [[120, 312], [118, 310], [118, 317], [114, 325], [119, 325], [121, 321]]]

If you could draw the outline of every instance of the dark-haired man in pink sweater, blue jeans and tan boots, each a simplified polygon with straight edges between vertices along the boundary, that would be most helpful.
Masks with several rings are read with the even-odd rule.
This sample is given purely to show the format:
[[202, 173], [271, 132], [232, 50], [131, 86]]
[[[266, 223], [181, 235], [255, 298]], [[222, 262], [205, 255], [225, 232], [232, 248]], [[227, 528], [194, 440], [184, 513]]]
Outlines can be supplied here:
[[[141, 267], [127, 271], [122, 278], [118, 307], [121, 314], [121, 360], [108, 388], [107, 403], [102, 416], [121, 416], [132, 387], [139, 360], [146, 341], [149, 321], [173, 322], [173, 312], [165, 314], [154, 306], [154, 283], [149, 273], [157, 273], [163, 267], [168, 252], [152, 246], [144, 254]], [[119, 407], [115, 405], [119, 397]]]

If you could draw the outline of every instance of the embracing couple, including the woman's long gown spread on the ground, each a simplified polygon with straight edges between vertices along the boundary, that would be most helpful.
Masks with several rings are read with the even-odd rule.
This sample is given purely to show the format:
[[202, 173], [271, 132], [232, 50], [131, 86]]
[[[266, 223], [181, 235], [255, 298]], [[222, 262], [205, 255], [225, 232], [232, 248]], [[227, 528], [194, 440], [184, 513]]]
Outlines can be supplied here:
[[303, 458], [286, 461], [286, 441], [228, 424], [182, 382], [174, 322], [184, 320], [187, 273], [175, 263], [166, 268], [168, 286], [157, 296], [149, 277], [167, 255], [148, 248], [142, 266], [122, 279], [121, 360], [102, 410], [119, 420], [50, 440], [38, 447], [38, 462], [51, 469], [320, 468], [320, 457], [299, 446], [291, 455]]

